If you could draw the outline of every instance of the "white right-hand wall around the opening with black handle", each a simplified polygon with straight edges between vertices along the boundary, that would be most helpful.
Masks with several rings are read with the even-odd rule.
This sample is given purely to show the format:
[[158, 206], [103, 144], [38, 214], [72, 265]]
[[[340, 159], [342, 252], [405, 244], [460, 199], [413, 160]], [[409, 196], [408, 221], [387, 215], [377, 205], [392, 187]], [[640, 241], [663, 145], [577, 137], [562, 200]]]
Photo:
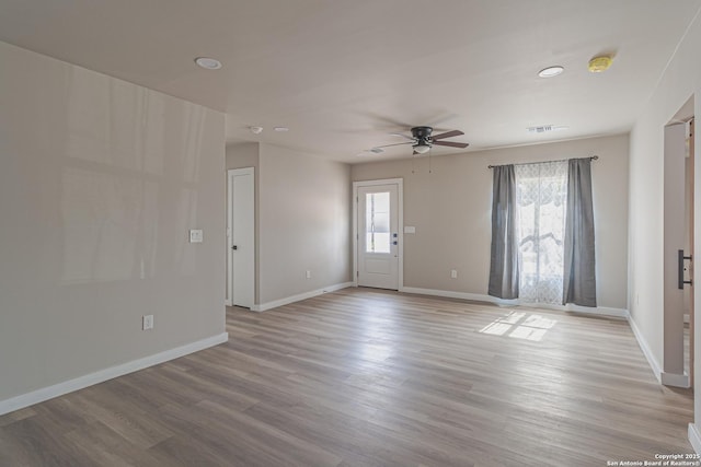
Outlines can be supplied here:
[[[701, 115], [701, 22], [697, 16], [679, 44], [659, 84], [631, 132], [630, 167], [630, 292], [631, 315], [640, 337], [657, 365], [664, 357], [664, 128], [696, 95], [694, 115]], [[694, 154], [694, 257], [701, 253], [701, 162], [699, 136]], [[683, 183], [683, 180], [679, 180]], [[680, 208], [682, 209], [682, 208]], [[697, 268], [698, 270], [698, 268]], [[701, 310], [701, 294], [694, 294], [694, 308]], [[701, 319], [696, 320], [700, 336]], [[697, 338], [697, 342], [699, 339]], [[694, 349], [694, 386], [699, 387], [701, 346]], [[701, 420], [701, 390], [694, 396], [696, 425]], [[696, 430], [696, 428], [694, 428]], [[697, 452], [701, 440], [691, 436]]]

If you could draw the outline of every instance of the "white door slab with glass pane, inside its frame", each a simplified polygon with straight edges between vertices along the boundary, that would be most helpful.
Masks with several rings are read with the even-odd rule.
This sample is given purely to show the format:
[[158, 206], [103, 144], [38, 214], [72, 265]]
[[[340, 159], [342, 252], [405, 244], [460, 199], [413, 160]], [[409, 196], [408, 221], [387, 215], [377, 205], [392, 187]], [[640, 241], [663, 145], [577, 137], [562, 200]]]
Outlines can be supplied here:
[[399, 289], [398, 185], [358, 187], [358, 285]]

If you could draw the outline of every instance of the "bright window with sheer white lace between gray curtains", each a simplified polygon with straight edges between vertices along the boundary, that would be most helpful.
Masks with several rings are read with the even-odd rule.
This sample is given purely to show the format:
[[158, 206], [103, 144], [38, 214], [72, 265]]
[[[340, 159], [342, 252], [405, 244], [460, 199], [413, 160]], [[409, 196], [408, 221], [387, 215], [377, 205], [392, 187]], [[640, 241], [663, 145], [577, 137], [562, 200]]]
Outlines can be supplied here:
[[516, 165], [519, 297], [562, 303], [567, 161]]

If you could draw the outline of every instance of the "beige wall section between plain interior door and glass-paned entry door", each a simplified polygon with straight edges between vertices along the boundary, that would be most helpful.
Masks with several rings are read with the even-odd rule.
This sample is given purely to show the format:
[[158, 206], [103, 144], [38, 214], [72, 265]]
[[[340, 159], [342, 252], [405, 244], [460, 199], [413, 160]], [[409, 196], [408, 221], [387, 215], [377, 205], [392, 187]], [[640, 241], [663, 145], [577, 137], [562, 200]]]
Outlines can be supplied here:
[[350, 281], [349, 166], [261, 143], [258, 180], [258, 303]]

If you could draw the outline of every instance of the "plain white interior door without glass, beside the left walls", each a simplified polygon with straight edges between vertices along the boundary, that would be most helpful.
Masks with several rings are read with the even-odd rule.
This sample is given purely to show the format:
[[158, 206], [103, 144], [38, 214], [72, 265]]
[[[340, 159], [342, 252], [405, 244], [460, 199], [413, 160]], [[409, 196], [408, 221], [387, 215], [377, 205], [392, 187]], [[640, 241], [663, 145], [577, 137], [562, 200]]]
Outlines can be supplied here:
[[253, 168], [229, 171], [229, 297], [248, 308], [255, 290], [254, 206]]

